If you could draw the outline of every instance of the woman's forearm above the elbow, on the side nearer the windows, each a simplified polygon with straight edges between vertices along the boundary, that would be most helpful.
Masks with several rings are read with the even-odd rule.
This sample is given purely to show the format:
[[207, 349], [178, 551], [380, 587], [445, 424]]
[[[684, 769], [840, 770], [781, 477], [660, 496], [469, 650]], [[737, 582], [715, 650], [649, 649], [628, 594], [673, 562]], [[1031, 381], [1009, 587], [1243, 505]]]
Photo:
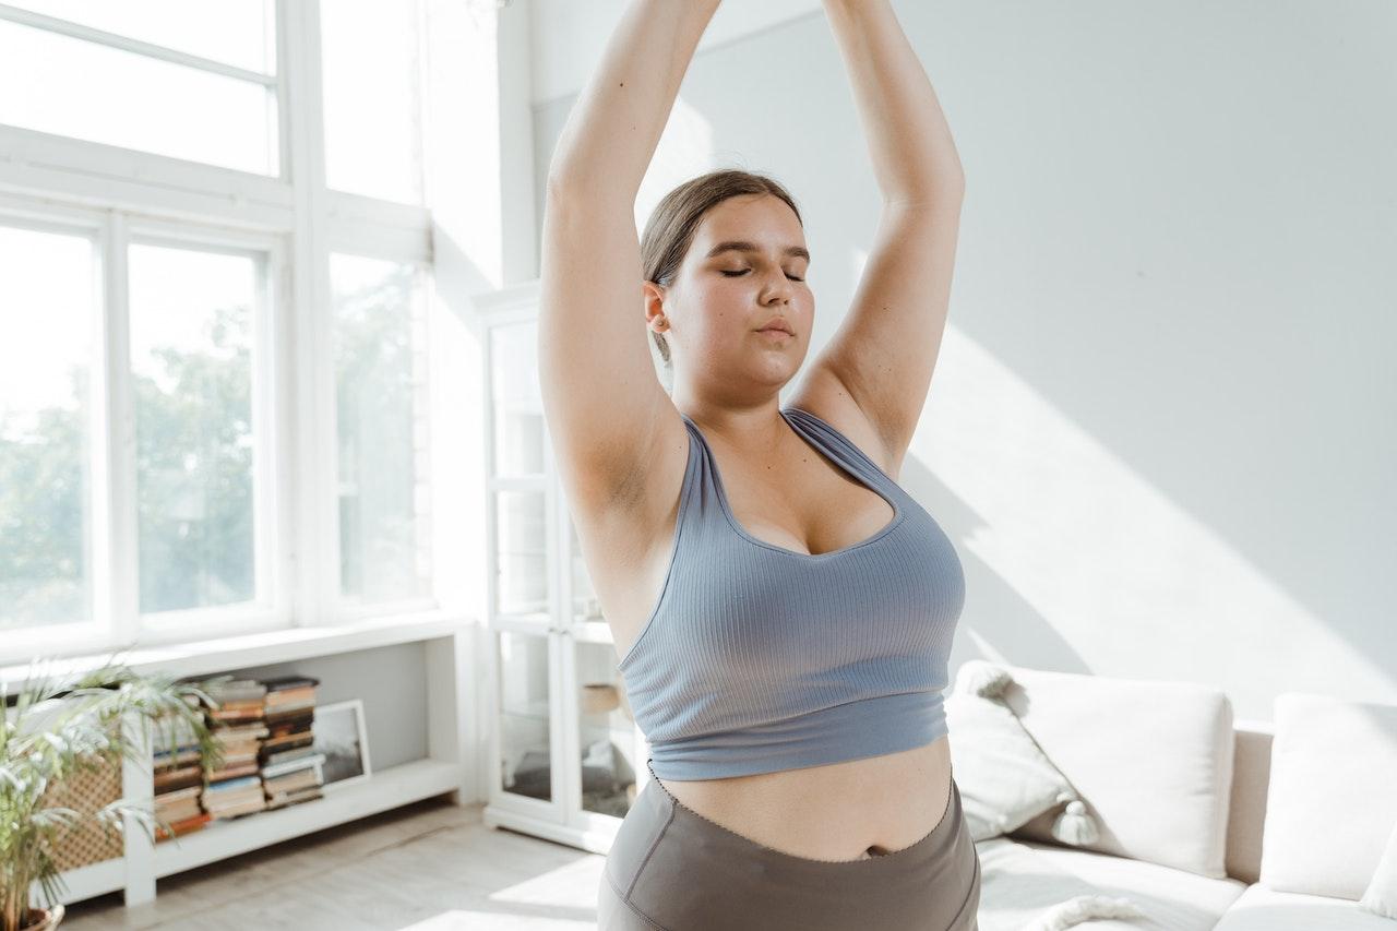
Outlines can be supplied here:
[[578, 95], [549, 164], [549, 185], [631, 203], [679, 85], [719, 0], [631, 0]]

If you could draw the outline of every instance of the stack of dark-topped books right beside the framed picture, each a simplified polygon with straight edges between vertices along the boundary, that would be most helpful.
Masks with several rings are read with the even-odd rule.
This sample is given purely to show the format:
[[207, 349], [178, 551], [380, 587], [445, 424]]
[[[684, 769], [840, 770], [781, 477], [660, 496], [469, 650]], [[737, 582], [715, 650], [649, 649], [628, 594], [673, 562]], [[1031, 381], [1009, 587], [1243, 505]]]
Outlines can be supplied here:
[[316, 752], [313, 732], [317, 685], [320, 679], [309, 675], [263, 679], [268, 737], [261, 745], [261, 777], [268, 809], [323, 794], [326, 755]]

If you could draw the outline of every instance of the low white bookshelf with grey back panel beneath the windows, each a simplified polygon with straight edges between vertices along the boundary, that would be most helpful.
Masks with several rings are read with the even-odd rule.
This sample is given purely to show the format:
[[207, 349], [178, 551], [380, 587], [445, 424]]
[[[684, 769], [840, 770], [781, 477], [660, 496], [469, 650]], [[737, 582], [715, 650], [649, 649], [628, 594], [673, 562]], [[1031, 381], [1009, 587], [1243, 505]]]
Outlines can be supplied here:
[[[123, 892], [127, 906], [142, 904], [155, 899], [158, 879], [226, 857], [434, 795], [450, 794], [457, 805], [471, 804], [478, 780], [469, 752], [476, 737], [469, 671], [478, 632], [472, 618], [427, 612], [123, 654], [122, 661], [138, 672], [179, 677], [235, 672], [256, 678], [303, 671], [321, 679], [317, 705], [362, 696], [373, 772], [362, 783], [332, 787], [324, 798], [215, 821], [154, 844], [140, 825], [131, 823], [124, 832], [124, 856], [63, 874], [67, 893], [61, 902]], [[49, 668], [78, 671], [103, 658], [75, 657]], [[366, 670], [381, 672], [377, 685]], [[0, 681], [13, 692], [27, 671], [27, 664], [0, 667]], [[149, 762], [124, 765], [123, 794], [129, 800], [152, 798]], [[38, 897], [38, 889], [34, 895]]]

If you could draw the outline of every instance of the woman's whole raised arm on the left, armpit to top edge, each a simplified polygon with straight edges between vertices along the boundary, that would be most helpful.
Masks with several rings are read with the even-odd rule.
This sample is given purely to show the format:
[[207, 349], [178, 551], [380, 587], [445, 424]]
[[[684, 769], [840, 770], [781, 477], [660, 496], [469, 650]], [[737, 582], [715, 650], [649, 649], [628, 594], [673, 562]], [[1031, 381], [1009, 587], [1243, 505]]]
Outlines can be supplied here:
[[[717, 7], [631, 0], [549, 166], [539, 380], [564, 491], [588, 514], [676, 498], [683, 475], [687, 432], [650, 356], [634, 210]], [[673, 488], [650, 488], [659, 468]]]

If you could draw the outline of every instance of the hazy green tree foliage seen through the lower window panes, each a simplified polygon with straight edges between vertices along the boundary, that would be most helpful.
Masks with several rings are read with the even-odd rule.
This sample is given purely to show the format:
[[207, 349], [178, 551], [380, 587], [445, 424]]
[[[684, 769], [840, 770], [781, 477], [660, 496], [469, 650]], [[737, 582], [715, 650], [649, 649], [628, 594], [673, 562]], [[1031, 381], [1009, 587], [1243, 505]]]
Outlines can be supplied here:
[[[358, 270], [356, 270], [358, 271]], [[360, 273], [362, 274], [362, 273]], [[341, 569], [351, 597], [411, 593], [416, 555], [412, 270], [335, 295]], [[217, 306], [198, 348], [155, 345], [131, 372], [141, 614], [254, 597], [253, 313]], [[271, 365], [256, 359], [257, 365]], [[87, 366], [29, 419], [0, 404], [0, 630], [92, 614]]]

